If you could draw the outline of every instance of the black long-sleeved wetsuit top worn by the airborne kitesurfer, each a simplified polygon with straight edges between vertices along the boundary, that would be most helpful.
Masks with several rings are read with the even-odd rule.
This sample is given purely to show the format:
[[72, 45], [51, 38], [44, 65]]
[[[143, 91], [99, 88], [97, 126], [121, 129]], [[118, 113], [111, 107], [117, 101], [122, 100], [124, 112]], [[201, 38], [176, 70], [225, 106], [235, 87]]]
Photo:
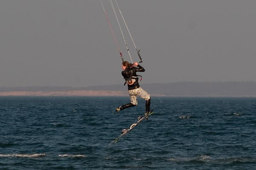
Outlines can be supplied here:
[[122, 71], [122, 76], [124, 77], [125, 81], [127, 81], [129, 79], [130, 80], [135, 79], [135, 82], [132, 85], [127, 84], [128, 90], [134, 90], [134, 89], [140, 87], [139, 82], [138, 82], [139, 78], [134, 78], [134, 77], [137, 77], [136, 72], [144, 72], [145, 69], [140, 65], [137, 65], [137, 67], [125, 68], [125, 71]]

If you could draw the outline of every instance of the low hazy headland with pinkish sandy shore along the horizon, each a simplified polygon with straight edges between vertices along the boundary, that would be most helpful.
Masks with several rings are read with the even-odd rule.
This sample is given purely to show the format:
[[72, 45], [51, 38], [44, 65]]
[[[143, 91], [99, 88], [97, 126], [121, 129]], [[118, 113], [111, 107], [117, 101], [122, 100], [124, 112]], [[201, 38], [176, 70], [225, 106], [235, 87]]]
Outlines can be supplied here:
[[[256, 82], [175, 82], [143, 84], [151, 96], [256, 96]], [[128, 96], [123, 85], [84, 88], [58, 86], [0, 87], [0, 96]]]

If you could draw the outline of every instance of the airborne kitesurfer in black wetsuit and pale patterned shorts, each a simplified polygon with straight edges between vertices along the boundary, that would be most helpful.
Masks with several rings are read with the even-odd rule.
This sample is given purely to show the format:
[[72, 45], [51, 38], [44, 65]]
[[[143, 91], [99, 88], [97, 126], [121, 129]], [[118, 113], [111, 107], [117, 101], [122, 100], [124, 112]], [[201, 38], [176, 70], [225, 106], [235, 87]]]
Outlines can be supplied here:
[[123, 69], [122, 76], [125, 79], [125, 84], [127, 83], [128, 85], [128, 93], [130, 95], [131, 102], [126, 105], [118, 106], [116, 108], [116, 112], [119, 112], [126, 108], [136, 106], [138, 104], [137, 96], [139, 96], [146, 100], [146, 104], [145, 104], [146, 105], [145, 115], [146, 115], [147, 113], [150, 113], [151, 99], [148, 92], [140, 88], [139, 78], [138, 78], [139, 75], [136, 74], [136, 72], [144, 72], [145, 69], [141, 65], [139, 65], [137, 62], [135, 62], [134, 65], [137, 67], [133, 66], [133, 64], [127, 61], [122, 62], [122, 69]]

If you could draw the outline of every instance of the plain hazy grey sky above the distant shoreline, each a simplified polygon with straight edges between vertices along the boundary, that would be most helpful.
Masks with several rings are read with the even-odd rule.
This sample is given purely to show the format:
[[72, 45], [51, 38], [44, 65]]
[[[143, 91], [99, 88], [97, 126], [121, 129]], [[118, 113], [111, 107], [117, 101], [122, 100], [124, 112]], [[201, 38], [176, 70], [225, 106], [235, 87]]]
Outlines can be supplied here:
[[[110, 2], [102, 2], [130, 61]], [[256, 81], [256, 0], [117, 2], [143, 59], [141, 84]], [[0, 0], [1, 87], [123, 82], [100, 0]]]

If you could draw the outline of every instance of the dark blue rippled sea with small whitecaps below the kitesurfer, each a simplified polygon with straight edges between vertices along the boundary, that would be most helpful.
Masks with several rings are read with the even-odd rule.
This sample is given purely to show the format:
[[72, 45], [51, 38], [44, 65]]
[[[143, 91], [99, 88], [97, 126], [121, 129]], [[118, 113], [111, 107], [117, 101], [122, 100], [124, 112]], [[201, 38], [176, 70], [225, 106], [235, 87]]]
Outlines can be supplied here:
[[254, 170], [256, 98], [0, 97], [2, 170]]

